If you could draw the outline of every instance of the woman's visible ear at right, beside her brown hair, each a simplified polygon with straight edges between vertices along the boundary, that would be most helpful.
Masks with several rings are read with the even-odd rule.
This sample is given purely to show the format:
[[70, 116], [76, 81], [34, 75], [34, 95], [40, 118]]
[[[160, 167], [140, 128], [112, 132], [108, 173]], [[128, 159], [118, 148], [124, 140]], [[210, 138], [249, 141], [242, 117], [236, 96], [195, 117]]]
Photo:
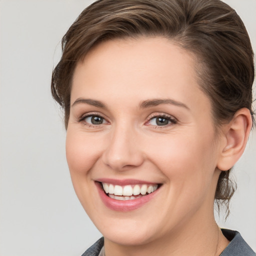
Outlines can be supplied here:
[[224, 142], [220, 148], [218, 169], [228, 170], [237, 162], [246, 146], [251, 125], [252, 118], [249, 109], [241, 108], [229, 123], [221, 127]]

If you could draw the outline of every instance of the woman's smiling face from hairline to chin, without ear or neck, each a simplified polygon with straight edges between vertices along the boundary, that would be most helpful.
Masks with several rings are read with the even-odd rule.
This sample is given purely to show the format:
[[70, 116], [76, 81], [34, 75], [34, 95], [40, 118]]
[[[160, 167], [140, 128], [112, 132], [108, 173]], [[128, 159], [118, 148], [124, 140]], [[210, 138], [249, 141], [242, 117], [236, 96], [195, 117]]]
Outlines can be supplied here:
[[194, 65], [155, 37], [102, 42], [76, 66], [66, 158], [111, 241], [146, 244], [213, 217], [219, 142]]

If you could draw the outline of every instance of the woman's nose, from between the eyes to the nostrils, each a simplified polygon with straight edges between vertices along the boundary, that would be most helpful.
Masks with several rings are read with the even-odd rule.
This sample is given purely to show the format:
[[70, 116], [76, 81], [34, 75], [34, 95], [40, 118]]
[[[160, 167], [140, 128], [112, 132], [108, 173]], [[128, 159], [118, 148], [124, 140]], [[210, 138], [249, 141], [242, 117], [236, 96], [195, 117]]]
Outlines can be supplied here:
[[130, 127], [115, 127], [108, 137], [102, 160], [111, 169], [122, 171], [138, 167], [143, 162], [138, 135]]

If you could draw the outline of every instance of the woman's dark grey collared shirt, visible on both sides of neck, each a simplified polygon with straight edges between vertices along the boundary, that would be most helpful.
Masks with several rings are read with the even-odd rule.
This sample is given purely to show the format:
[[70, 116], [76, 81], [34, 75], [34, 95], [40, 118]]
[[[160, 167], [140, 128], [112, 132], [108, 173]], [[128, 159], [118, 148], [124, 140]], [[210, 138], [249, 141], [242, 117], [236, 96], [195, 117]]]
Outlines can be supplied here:
[[[243, 240], [238, 231], [221, 229], [223, 235], [230, 241], [220, 256], [256, 256], [255, 252]], [[90, 246], [81, 256], [99, 256], [99, 252], [104, 245], [104, 238], [101, 237]]]

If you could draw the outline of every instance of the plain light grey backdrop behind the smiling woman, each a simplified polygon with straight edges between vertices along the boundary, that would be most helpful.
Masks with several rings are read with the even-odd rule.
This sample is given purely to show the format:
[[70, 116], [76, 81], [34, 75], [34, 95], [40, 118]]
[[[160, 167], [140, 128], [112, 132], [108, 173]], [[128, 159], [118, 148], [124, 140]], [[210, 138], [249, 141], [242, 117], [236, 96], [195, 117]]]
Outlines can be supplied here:
[[[72, 188], [65, 130], [51, 99], [60, 39], [92, 0], [0, 0], [0, 256], [80, 255], [100, 237]], [[256, 0], [226, 0], [256, 51]], [[238, 189], [221, 226], [256, 250], [256, 133], [234, 169]]]

